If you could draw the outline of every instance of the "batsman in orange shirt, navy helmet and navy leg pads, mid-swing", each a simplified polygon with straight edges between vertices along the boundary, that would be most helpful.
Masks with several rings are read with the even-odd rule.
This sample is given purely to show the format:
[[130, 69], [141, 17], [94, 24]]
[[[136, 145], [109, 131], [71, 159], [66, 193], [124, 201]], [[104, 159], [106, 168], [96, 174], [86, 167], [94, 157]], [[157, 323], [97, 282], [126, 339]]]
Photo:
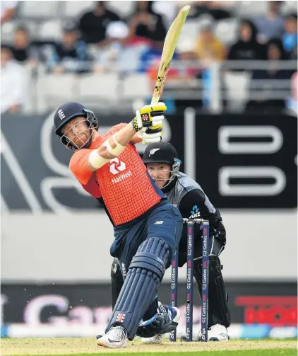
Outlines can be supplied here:
[[[183, 219], [135, 147], [160, 142], [166, 109], [164, 103], [145, 105], [131, 122], [102, 135], [94, 113], [81, 103], [64, 103], [54, 114], [56, 134], [73, 151], [73, 176], [105, 207], [114, 226], [110, 253], [119, 260], [124, 284], [105, 335], [97, 339], [105, 348], [125, 348], [137, 328], [148, 337], [177, 328], [179, 309], [162, 306], [157, 289], [181, 238]], [[100, 226], [98, 234], [107, 237], [100, 236]]]

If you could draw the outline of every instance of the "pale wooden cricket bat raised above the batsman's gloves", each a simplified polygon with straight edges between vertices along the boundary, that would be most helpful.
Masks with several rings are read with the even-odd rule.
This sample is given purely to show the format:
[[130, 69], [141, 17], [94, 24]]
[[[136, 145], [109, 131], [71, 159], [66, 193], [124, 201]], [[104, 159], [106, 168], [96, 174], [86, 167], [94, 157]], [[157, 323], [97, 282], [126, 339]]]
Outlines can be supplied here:
[[190, 8], [191, 6], [189, 5], [186, 5], [184, 6], [184, 8], [181, 8], [177, 15], [177, 18], [174, 19], [172, 25], [167, 31], [151, 104], [156, 104], [158, 103], [158, 101], [160, 101], [162, 89], [165, 86], [165, 79], [167, 79], [167, 72], [169, 71], [169, 64], [172, 61], [172, 57], [174, 54], [174, 50], [177, 46], [181, 29], [184, 25], [186, 16], [189, 14]]

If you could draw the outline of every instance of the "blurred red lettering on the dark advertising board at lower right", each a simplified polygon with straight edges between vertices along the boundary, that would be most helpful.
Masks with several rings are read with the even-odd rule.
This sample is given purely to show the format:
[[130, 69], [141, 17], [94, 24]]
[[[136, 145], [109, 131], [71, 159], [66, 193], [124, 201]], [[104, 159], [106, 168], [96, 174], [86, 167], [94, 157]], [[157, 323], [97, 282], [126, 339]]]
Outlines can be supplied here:
[[235, 304], [244, 306], [244, 323], [297, 326], [297, 297], [237, 297]]

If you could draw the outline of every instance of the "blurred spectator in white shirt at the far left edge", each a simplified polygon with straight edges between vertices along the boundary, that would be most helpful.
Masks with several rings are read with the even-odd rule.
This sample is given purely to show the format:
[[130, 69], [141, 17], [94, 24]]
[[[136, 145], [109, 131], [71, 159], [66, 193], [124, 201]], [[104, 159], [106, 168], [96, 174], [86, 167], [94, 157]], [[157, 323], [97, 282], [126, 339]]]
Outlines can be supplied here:
[[18, 113], [25, 103], [25, 71], [5, 46], [1, 46], [0, 103], [1, 114]]

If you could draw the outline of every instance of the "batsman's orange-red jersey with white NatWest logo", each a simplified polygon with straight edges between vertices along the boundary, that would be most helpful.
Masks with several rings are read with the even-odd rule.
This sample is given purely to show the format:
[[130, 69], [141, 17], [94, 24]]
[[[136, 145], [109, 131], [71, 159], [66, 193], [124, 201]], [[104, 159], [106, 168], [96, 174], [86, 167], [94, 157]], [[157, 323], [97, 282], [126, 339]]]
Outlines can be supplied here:
[[124, 151], [91, 172], [88, 169], [90, 149], [97, 149], [106, 139], [126, 124], [112, 127], [98, 137], [89, 149], [80, 149], [71, 157], [69, 168], [83, 188], [100, 202], [115, 226], [131, 222], [148, 209], [165, 199], [148, 175], [134, 144], [128, 144]]

